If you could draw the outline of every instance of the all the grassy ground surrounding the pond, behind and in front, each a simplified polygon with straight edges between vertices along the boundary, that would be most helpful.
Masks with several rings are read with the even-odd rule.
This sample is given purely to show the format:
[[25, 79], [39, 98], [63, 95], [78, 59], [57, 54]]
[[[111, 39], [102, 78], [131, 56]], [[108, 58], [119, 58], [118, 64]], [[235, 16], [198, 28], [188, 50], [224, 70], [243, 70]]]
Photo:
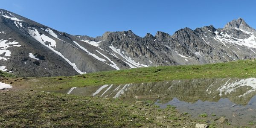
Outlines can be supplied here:
[[[147, 67], [67, 77], [15, 78], [0, 73], [2, 77], [9, 77], [2, 79], [2, 82], [12, 83], [13, 86], [9, 91], [0, 91], [0, 127], [194, 128], [195, 123], [204, 123], [210, 128], [233, 128], [235, 125], [230, 123], [216, 124], [216, 116], [195, 119], [189, 113], [177, 111], [173, 106], [159, 109], [150, 100], [102, 99], [45, 93], [44, 90], [171, 79], [256, 77], [256, 61]], [[248, 125], [255, 126], [249, 122]]]

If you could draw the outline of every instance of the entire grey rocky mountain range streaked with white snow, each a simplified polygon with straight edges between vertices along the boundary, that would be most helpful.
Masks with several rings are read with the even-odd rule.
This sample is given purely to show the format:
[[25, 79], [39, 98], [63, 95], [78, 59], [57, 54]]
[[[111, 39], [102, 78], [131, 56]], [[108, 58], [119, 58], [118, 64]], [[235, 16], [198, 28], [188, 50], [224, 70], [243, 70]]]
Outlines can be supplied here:
[[205, 26], [157, 32], [131, 30], [96, 38], [69, 35], [0, 9], [0, 70], [18, 76], [68, 76], [157, 65], [209, 64], [256, 56], [256, 30], [241, 18], [223, 29]]

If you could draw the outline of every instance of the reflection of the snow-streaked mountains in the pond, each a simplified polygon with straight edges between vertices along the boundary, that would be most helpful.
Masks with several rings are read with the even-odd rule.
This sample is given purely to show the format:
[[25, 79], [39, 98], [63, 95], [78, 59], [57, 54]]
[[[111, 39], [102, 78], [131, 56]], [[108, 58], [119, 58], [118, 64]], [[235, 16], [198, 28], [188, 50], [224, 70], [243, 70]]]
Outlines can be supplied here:
[[58, 93], [68, 93], [79, 96], [101, 96], [103, 98], [137, 98], [158, 99], [169, 102], [173, 98], [194, 103], [198, 100], [218, 102], [228, 98], [239, 105], [247, 105], [256, 95], [256, 78], [211, 78], [171, 80], [148, 82], [140, 84], [106, 84], [92, 87], [76, 87], [67, 90], [57, 90]]

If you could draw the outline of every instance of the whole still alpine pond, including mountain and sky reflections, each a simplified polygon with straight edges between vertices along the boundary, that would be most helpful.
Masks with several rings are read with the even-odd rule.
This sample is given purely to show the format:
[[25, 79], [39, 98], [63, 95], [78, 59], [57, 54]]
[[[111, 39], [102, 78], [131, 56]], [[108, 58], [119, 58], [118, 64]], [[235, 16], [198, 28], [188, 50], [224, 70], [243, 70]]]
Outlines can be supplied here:
[[56, 90], [79, 96], [135, 98], [154, 100], [160, 108], [174, 105], [194, 117], [201, 113], [226, 116], [231, 123], [242, 125], [256, 121], [256, 78], [212, 78], [171, 80], [139, 84], [106, 84]]

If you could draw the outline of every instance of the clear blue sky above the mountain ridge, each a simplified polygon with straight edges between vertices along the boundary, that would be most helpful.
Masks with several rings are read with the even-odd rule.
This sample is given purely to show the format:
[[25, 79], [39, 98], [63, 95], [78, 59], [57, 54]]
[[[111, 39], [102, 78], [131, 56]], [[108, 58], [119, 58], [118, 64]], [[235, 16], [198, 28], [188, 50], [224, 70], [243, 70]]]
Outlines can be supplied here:
[[101, 36], [132, 30], [157, 31], [213, 25], [242, 17], [256, 28], [256, 0], [1, 0], [0, 8], [72, 35]]

